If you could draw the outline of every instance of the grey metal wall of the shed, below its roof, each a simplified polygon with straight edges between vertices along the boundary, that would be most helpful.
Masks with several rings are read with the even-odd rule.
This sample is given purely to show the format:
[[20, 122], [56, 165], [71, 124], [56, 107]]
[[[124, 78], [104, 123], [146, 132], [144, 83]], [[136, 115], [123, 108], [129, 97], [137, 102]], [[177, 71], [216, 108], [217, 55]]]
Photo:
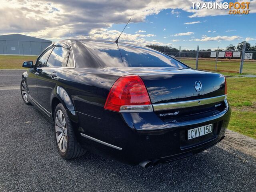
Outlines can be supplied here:
[[0, 54], [39, 55], [51, 42], [0, 40]]

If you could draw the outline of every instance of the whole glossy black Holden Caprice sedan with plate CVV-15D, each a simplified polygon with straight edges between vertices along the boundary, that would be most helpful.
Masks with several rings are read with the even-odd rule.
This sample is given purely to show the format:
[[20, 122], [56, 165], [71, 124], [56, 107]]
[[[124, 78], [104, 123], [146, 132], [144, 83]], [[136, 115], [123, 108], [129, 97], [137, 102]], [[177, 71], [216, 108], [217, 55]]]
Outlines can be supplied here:
[[23, 67], [22, 98], [54, 121], [64, 159], [88, 150], [154, 166], [220, 142], [230, 119], [222, 74], [148, 47], [64, 40]]

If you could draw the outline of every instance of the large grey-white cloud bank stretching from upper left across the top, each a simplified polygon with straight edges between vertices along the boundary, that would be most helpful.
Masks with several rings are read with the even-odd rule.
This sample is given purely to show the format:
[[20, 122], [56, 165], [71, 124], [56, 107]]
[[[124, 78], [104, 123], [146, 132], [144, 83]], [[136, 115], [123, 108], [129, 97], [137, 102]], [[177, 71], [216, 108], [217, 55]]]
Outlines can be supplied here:
[[[23, 33], [40, 38], [59, 39], [88, 36], [92, 30], [109, 28], [113, 24], [145, 22], [146, 17], [162, 10], [179, 16], [182, 10], [190, 17], [227, 14], [227, 10], [193, 10], [190, 0], [1, 0], [2, 34]], [[201, 2], [201, 1], [200, 1]], [[250, 14], [256, 12], [256, 0], [250, 2]]]

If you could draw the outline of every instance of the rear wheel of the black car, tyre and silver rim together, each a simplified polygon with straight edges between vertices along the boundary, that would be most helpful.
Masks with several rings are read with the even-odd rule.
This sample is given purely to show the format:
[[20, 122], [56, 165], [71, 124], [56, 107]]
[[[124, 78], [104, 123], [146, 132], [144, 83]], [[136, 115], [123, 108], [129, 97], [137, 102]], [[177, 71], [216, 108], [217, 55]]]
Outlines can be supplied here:
[[76, 141], [70, 118], [62, 103], [56, 106], [54, 112], [54, 136], [62, 158], [72, 159], [86, 153], [86, 150]]

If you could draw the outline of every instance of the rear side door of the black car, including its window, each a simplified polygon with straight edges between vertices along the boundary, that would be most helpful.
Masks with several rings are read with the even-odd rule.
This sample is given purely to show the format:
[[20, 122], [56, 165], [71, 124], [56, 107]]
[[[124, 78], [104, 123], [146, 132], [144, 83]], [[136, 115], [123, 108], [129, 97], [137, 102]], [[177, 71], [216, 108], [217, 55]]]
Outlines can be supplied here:
[[70, 46], [68, 44], [55, 44], [46, 64], [40, 68], [38, 74], [39, 102], [49, 115], [51, 111], [51, 96], [54, 95], [55, 87], [60, 84], [60, 73], [67, 66], [69, 52]]

